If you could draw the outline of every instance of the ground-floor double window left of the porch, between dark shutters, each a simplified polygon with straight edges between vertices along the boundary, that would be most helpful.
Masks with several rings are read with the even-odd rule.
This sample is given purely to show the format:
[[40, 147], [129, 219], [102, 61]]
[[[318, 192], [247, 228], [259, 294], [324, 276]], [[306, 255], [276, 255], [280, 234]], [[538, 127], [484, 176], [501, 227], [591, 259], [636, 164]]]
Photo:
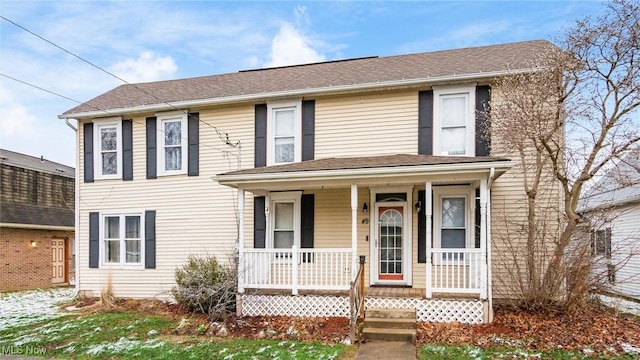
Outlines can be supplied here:
[[106, 214], [102, 217], [103, 262], [142, 265], [142, 214]]

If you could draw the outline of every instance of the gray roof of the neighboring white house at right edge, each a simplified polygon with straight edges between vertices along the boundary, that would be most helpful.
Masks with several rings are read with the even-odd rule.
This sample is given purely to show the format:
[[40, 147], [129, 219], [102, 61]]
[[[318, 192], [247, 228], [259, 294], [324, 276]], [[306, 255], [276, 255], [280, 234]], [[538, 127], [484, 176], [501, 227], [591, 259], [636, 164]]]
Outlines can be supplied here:
[[640, 150], [627, 154], [586, 191], [578, 209], [587, 211], [634, 201], [640, 201]]

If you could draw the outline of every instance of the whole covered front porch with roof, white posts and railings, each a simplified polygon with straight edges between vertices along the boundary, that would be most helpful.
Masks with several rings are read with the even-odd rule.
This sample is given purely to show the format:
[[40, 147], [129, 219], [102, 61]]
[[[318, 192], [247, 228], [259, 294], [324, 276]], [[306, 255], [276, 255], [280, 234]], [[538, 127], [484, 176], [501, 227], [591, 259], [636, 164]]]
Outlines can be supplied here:
[[419, 321], [487, 322], [490, 187], [511, 166], [395, 155], [219, 175], [238, 189], [240, 229], [245, 194], [254, 200], [253, 239], [239, 232], [239, 313], [353, 318], [355, 292]]

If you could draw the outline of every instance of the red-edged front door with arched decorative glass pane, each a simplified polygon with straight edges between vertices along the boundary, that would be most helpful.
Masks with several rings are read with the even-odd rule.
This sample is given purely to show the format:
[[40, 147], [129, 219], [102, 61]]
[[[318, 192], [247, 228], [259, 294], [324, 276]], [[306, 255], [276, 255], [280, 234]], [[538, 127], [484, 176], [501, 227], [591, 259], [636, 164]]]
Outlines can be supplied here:
[[402, 281], [404, 217], [401, 206], [378, 208], [378, 279]]

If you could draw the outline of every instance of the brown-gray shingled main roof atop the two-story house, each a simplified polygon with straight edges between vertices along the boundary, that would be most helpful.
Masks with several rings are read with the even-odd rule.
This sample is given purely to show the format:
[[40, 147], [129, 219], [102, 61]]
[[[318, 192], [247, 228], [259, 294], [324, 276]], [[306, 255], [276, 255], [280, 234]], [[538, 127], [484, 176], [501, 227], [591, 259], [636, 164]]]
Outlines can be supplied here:
[[[121, 85], [60, 117], [100, 110], [222, 99], [279, 92], [348, 87], [471, 75], [477, 78], [496, 73], [530, 69], [536, 55], [549, 48], [545, 40], [429, 53], [369, 57], [342, 61], [241, 71], [222, 75]], [[492, 75], [493, 74], [493, 75]], [[141, 91], [139, 89], [144, 91]], [[146, 93], [152, 94], [150, 96]], [[161, 100], [159, 100], [161, 99]]]

